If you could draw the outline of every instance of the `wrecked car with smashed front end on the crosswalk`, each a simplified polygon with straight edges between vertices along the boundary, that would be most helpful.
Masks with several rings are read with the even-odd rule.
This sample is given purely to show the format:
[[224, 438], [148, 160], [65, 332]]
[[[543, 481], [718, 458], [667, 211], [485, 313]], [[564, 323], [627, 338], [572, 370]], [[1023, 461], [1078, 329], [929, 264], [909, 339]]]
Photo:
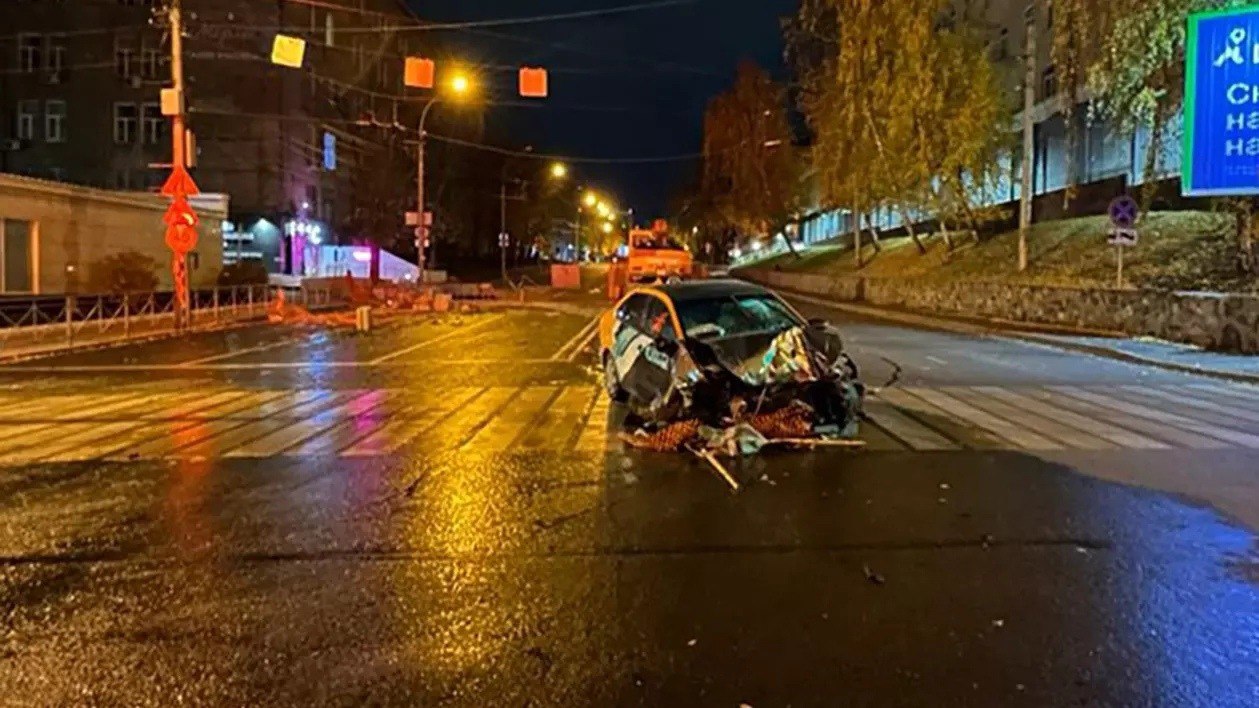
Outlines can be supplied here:
[[642, 431], [677, 431], [657, 447], [739, 427], [762, 442], [857, 435], [865, 389], [838, 331], [757, 285], [635, 290], [603, 315], [599, 354], [608, 396]]

